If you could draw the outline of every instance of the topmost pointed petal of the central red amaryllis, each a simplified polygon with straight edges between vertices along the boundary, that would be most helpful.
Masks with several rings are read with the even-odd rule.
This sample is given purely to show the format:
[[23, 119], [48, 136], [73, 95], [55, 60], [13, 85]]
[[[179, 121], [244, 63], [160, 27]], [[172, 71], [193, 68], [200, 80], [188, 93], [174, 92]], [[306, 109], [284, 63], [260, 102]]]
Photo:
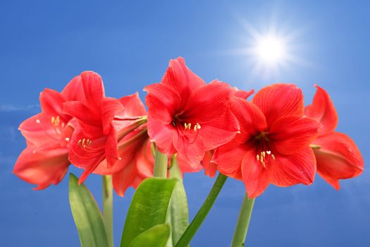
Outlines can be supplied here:
[[170, 64], [161, 83], [173, 88], [178, 92], [184, 103], [191, 95], [192, 91], [205, 85], [204, 80], [199, 78], [195, 73], [192, 73], [185, 65], [185, 60], [182, 57], [171, 59]]

